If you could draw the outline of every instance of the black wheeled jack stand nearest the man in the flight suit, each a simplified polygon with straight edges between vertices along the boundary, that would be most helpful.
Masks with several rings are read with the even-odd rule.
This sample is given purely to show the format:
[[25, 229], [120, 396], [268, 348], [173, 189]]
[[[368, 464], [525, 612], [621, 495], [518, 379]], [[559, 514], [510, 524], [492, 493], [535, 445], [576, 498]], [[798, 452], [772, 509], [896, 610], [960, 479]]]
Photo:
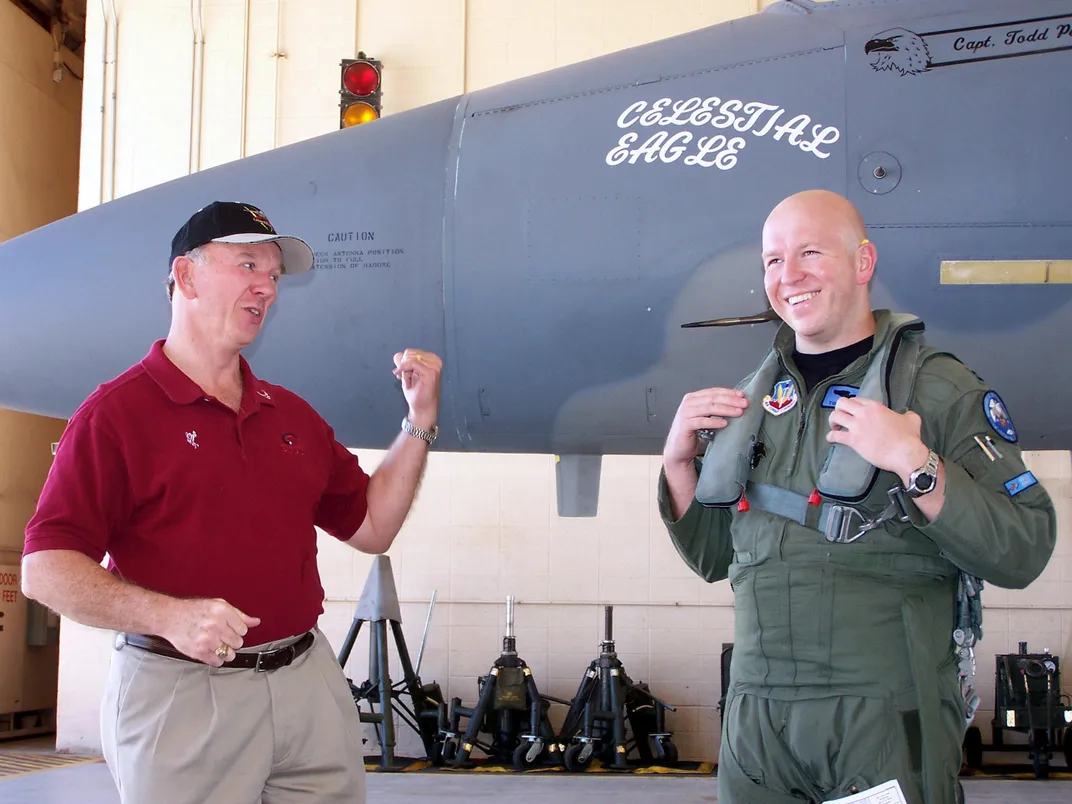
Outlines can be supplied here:
[[[676, 765], [678, 746], [665, 723], [666, 710], [678, 710], [653, 696], [646, 684], [629, 679], [614, 649], [614, 607], [604, 608], [606, 638], [599, 658], [589, 665], [559, 732], [566, 770], [583, 771], [597, 755], [605, 766], [626, 770], [632, 748], [643, 764]], [[628, 741], [626, 720], [632, 731]]]

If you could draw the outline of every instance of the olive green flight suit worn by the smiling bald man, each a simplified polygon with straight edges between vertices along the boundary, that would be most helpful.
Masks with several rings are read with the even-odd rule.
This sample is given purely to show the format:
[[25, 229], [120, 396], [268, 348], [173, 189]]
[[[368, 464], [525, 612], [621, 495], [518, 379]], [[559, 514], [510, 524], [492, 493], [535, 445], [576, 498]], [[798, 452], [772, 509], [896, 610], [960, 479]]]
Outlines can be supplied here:
[[[875, 317], [870, 353], [807, 393], [791, 359], [793, 333], [779, 329], [778, 379], [794, 381], [799, 401], [780, 415], [764, 413], [765, 455], [749, 482], [813, 493], [831, 447], [827, 390], [859, 387], [893, 333], [889, 311]], [[910, 804], [959, 801], [965, 703], [952, 638], [958, 569], [1022, 589], [1048, 562], [1057, 526], [1048, 494], [998, 430], [1008, 425], [1015, 438], [1007, 414], [996, 408], [996, 423], [987, 418], [984, 402], [995, 399], [988, 391], [953, 357], [928, 357], [909, 407], [922, 419], [923, 442], [944, 463], [941, 512], [927, 523], [909, 502], [911, 523], [888, 523], [852, 544], [828, 541], [819, 530], [756, 506], [740, 511], [694, 500], [673, 521], [660, 475], [659, 511], [679, 553], [708, 582], [729, 578], [734, 592], [720, 804], [822, 802], [891, 778]], [[761, 397], [749, 402], [759, 405]], [[977, 435], [991, 436], [1001, 457], [992, 461]], [[882, 510], [897, 483], [896, 475], [879, 473], [859, 507], [872, 516]]]

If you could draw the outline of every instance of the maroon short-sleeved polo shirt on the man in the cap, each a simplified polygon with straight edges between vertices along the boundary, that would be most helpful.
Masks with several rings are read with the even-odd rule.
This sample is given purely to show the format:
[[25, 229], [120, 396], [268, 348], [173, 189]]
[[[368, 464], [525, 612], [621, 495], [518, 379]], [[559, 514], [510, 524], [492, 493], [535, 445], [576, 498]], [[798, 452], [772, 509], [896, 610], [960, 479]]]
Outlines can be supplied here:
[[260, 617], [247, 644], [312, 628], [324, 610], [314, 525], [353, 536], [368, 474], [304, 400], [255, 377], [244, 358], [236, 414], [163, 343], [71, 418], [25, 554], [108, 554], [131, 583], [223, 598]]

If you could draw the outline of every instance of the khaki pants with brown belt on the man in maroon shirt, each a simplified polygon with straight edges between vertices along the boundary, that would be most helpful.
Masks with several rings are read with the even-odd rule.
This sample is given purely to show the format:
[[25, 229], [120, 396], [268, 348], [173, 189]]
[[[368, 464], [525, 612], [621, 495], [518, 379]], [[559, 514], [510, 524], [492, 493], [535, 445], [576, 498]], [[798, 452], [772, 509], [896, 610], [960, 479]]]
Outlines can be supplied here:
[[122, 804], [363, 804], [357, 706], [315, 635], [289, 667], [263, 673], [116, 651], [101, 735]]

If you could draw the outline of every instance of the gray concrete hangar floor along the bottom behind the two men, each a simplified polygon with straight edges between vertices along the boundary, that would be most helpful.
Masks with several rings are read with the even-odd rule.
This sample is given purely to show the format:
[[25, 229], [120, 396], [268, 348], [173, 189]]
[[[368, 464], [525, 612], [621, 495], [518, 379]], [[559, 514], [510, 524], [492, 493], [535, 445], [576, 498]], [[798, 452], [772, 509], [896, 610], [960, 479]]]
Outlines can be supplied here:
[[[0, 749], [3, 745], [0, 744]], [[968, 804], [1069, 804], [1070, 779], [967, 779]], [[504, 802], [526, 804], [548, 801], [608, 801], [614, 804], [700, 804], [717, 802], [713, 776], [631, 776], [557, 774], [500, 776], [497, 774], [369, 774], [369, 804], [427, 801], [436, 804]], [[108, 769], [103, 762], [0, 779], [3, 804], [119, 804]]]

